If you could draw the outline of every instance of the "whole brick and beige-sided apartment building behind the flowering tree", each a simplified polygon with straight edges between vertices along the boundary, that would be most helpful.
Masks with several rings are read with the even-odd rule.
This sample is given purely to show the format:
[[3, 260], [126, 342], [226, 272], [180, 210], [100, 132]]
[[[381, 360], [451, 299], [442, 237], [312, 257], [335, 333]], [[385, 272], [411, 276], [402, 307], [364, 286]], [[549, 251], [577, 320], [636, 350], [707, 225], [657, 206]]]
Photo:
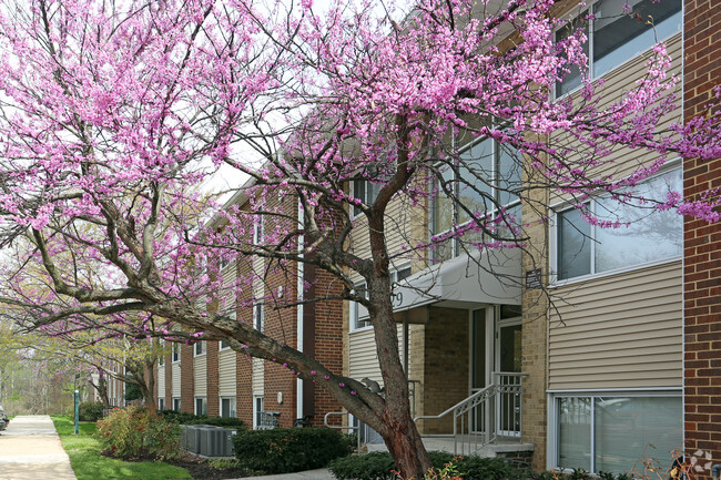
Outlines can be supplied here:
[[[621, 14], [626, 3], [651, 16], [654, 28]], [[662, 119], [663, 126], [704, 113], [719, 84], [721, 12], [714, 3], [591, 0], [582, 7], [566, 2], [559, 14], [569, 21], [596, 14], [586, 25], [589, 68], [595, 79], [605, 79], [608, 102], [643, 75], [656, 40], [666, 42], [671, 71], [683, 79], [678, 85], [683, 104]], [[560, 29], [559, 38], [563, 34]], [[577, 95], [578, 80], [567, 76], [554, 94]], [[492, 159], [497, 172], [506, 168], [508, 159], [492, 141], [469, 142], [467, 152]], [[615, 153], [616, 175], [657, 160], [630, 149]], [[718, 187], [720, 170], [719, 161], [671, 160], [640, 188], [647, 195], [683, 190], [693, 196]], [[506, 182], [530, 180], [528, 172], [505, 172]], [[360, 180], [352, 188], [367, 201], [376, 193]], [[603, 195], [587, 200], [599, 216], [607, 212], [633, 221], [629, 228], [608, 231], [585, 223], [571, 198], [556, 192], [537, 192], [548, 212], [498, 195], [534, 225], [528, 229], [532, 255], [474, 253], [450, 241], [423, 258], [394, 257], [398, 345], [422, 433], [435, 437], [436, 446], [455, 433], [456, 447], [520, 456], [537, 469], [619, 472], [639, 467], [643, 458], [666, 467], [678, 451], [702, 451], [698, 473], [710, 476], [711, 463], [721, 463], [721, 227], [671, 212], [619, 210]], [[443, 197], [425, 208], [395, 201], [388, 212], [397, 226], [389, 232], [389, 251], [443, 234], [448, 217], [457, 215], [453, 208]], [[357, 222], [354, 252], [364, 255], [369, 245], [364, 219]], [[240, 267], [225, 268], [233, 278]], [[363, 290], [360, 277], [354, 279]], [[363, 306], [318, 304], [309, 310], [286, 312], [285, 325], [295, 318], [298, 326], [291, 341], [299, 343], [302, 329], [306, 351], [313, 348], [344, 375], [383, 387]], [[263, 321], [258, 315], [238, 309], [240, 318], [256, 325]], [[266, 316], [264, 321], [265, 328], [277, 328], [276, 320]], [[308, 331], [315, 333], [314, 344], [305, 339]], [[317, 340], [325, 335], [342, 341]], [[324, 412], [341, 410], [286, 371], [222, 344], [199, 345], [179, 347], [161, 368], [160, 401], [166, 408], [237, 415], [254, 427], [262, 427], [258, 412], [280, 412], [280, 423], [290, 426], [306, 415], [321, 425]], [[347, 425], [359, 427], [366, 441], [379, 441], [352, 416]]]

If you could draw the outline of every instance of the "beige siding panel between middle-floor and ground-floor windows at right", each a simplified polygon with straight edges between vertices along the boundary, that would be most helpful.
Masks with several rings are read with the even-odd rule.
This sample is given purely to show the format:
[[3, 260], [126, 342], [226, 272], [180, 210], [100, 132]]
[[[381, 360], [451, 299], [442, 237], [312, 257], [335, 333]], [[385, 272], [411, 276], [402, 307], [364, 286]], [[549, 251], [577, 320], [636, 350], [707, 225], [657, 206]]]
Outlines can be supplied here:
[[557, 288], [549, 389], [682, 386], [681, 280], [672, 262]]

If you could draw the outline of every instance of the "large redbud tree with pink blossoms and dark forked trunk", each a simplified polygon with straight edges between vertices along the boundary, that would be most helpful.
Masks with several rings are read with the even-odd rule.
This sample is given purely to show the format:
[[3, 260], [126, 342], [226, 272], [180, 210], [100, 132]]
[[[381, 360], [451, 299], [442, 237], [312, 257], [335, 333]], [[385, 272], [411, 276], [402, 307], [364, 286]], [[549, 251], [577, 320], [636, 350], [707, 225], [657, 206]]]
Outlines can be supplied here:
[[[396, 262], [422, 268], [447, 257], [449, 242], [469, 253], [528, 249], [528, 222], [507, 205], [542, 219], [539, 191], [579, 202], [605, 192], [718, 219], [713, 192], [640, 198], [633, 190], [667, 159], [719, 156], [718, 114], [661, 123], [678, 111], [679, 91], [663, 44], [638, 83], [605, 101], [586, 74], [582, 25], [567, 25], [556, 3], [3, 1], [0, 225], [16, 267], [4, 272], [2, 302], [31, 329], [224, 339], [286, 365], [375, 429], [402, 476], [423, 477], [430, 462], [390, 300]], [[576, 93], [556, 99], [572, 75]], [[502, 184], [483, 147], [463, 154], [471, 142], [510, 159]], [[617, 171], [622, 145], [652, 160]], [[219, 165], [250, 175], [244, 203], [220, 208], [203, 196]], [[349, 188], [356, 181], [367, 188]], [[394, 202], [425, 218], [422, 227], [390, 217]], [[438, 203], [455, 214], [435, 218], [443, 228], [428, 235]], [[399, 247], [389, 247], [393, 235]], [[229, 262], [241, 273], [230, 284], [219, 274]], [[309, 279], [277, 298], [253, 288], [295, 278], [298, 265], [335, 282]], [[221, 292], [236, 304], [209, 309]], [[383, 396], [232, 315], [257, 302], [339, 299], [368, 310]]]

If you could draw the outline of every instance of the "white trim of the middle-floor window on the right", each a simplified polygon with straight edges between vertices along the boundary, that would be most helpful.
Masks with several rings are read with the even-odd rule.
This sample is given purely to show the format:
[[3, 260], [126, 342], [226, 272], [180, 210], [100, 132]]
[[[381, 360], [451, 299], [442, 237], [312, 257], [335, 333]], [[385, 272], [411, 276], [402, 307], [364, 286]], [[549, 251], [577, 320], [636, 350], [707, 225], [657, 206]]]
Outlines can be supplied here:
[[[648, 182], [652, 178], [656, 178], [658, 176], [664, 175], [676, 168], [681, 168], [681, 180], [683, 181], [683, 168], [681, 165], [680, 159], [674, 159], [670, 162], [667, 162], [667, 164], [659, 170], [658, 173], [654, 175], [650, 175], [647, 178], [643, 180], [643, 182]], [[599, 194], [600, 196], [603, 196], [605, 194], [608, 194], [607, 192], [601, 192]], [[589, 198], [582, 203], [590, 202], [590, 207], [591, 207], [591, 213], [596, 213], [596, 196], [592, 198]], [[651, 268], [654, 266], [659, 265], [666, 265], [666, 264], [672, 264], [676, 262], [680, 262], [683, 258], [683, 249], [681, 251], [680, 255], [674, 255], [668, 258], [659, 258], [656, 261], [651, 262], [643, 262], [640, 264], [634, 264], [621, 268], [613, 268], [610, 270], [606, 272], [600, 272], [600, 273], [595, 273], [593, 272], [593, 258], [596, 254], [596, 242], [593, 241], [595, 238], [595, 232], [593, 232], [593, 226], [591, 226], [591, 235], [589, 237], [589, 242], [591, 243], [591, 273], [586, 274], [586, 275], [579, 275], [577, 277], [571, 277], [571, 278], [565, 278], [559, 280], [557, 276], [558, 272], [558, 215], [563, 212], [568, 212], [573, 208], [573, 205], [577, 205], [577, 203], [573, 203], [572, 201], [566, 201], [566, 202], [558, 202], [549, 207], [550, 211], [552, 211], [552, 214], [550, 215], [550, 223], [548, 225], [549, 228], [549, 234], [548, 234], [548, 242], [549, 242], [549, 255], [548, 255], [548, 261], [549, 261], [549, 266], [550, 266], [550, 272], [549, 272], [549, 279], [548, 279], [548, 287], [549, 288], [559, 288], [566, 285], [572, 285], [572, 284], [578, 284], [582, 282], [588, 282], [590, 279], [597, 279], [597, 278], [605, 278], [609, 277], [612, 275], [620, 275], [629, 272], [636, 272], [640, 270], [643, 268]], [[683, 235], [683, 232], [681, 232], [681, 235]]]

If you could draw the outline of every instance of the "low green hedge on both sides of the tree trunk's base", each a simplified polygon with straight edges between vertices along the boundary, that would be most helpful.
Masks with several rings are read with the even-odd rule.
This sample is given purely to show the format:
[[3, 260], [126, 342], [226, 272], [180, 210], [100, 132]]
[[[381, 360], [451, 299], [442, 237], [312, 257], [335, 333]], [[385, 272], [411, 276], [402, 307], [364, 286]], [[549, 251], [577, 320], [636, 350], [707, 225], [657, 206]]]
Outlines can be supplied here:
[[[454, 460], [454, 455], [444, 451], [430, 451], [430, 463], [443, 470], [453, 462], [464, 480], [505, 480], [519, 477], [518, 471], [500, 458], [467, 457]], [[334, 460], [328, 466], [338, 480], [392, 480], [397, 470], [390, 453], [373, 452]]]

